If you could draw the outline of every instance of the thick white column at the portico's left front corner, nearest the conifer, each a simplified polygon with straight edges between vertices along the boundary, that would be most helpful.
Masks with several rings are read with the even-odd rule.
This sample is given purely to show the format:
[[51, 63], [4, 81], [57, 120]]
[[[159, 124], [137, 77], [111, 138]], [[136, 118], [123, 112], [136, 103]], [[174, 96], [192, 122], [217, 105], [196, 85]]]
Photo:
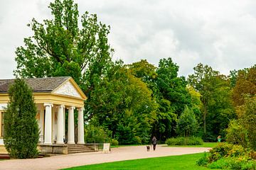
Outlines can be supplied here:
[[43, 106], [46, 107], [44, 144], [52, 144], [52, 107], [53, 107], [53, 104], [44, 103]]

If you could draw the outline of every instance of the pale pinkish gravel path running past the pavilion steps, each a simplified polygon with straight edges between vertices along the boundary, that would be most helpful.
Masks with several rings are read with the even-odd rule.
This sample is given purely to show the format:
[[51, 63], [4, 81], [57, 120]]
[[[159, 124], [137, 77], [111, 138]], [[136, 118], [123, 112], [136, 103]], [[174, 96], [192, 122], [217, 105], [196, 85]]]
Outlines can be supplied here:
[[112, 148], [111, 153], [102, 152], [68, 154], [40, 159], [11, 159], [0, 161], [0, 169], [63, 169], [87, 164], [117, 162], [130, 159], [164, 157], [170, 155], [194, 154], [208, 152], [206, 147], [164, 147], [157, 145], [156, 151], [146, 151], [146, 146]]

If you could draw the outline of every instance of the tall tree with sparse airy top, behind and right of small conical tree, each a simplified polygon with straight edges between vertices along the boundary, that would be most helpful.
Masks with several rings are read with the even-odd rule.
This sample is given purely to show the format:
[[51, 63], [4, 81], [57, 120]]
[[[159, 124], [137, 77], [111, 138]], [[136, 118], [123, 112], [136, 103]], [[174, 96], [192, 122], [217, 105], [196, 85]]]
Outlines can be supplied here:
[[204, 136], [207, 140], [224, 136], [229, 121], [235, 118], [230, 81], [208, 65], [198, 64], [194, 71], [188, 76], [188, 82], [201, 94]]

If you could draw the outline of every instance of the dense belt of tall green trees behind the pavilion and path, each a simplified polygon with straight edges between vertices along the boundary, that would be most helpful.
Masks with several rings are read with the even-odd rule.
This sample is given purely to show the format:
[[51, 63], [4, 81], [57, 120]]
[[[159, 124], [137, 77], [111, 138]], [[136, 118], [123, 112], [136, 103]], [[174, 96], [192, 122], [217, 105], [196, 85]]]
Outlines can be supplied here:
[[152, 136], [165, 141], [178, 135], [215, 141], [225, 137], [230, 120], [245, 113], [245, 97], [256, 94], [256, 65], [225, 76], [200, 63], [186, 78], [178, 76], [171, 58], [159, 60], [158, 66], [146, 60], [113, 62], [110, 26], [87, 12], [79, 23], [73, 0], [55, 0], [49, 8], [53, 19], [28, 24], [34, 35], [17, 48], [14, 73], [73, 77], [88, 98], [87, 142], [139, 144]]

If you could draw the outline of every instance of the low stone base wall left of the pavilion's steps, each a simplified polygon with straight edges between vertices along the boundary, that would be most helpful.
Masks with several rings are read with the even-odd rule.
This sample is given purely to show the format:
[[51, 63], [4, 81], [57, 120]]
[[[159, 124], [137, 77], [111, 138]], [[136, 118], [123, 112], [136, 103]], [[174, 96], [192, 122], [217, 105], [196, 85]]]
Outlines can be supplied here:
[[39, 145], [38, 150], [41, 154], [68, 154], [67, 145]]

